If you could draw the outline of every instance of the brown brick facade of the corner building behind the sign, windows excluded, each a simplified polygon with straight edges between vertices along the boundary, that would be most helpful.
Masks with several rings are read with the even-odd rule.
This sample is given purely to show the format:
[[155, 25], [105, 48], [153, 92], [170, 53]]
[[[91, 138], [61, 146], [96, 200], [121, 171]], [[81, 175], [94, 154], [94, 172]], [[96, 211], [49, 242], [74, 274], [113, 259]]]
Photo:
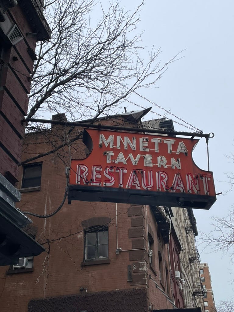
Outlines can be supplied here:
[[[39, 188], [20, 189], [22, 199], [19, 207], [22, 211], [47, 215], [61, 203], [66, 187], [67, 157], [71, 154], [71, 157], [81, 158], [85, 150], [81, 139], [78, 139], [70, 150], [66, 146], [57, 153], [50, 153], [51, 144], [60, 145], [68, 130], [52, 127], [46, 136], [43, 133], [29, 134], [24, 140], [22, 160], [32, 156], [34, 162], [42, 162], [42, 174]], [[71, 135], [76, 136], [77, 130]], [[41, 157], [42, 154], [45, 156]], [[23, 168], [20, 170], [22, 177]], [[18, 187], [21, 187], [21, 181]], [[105, 305], [111, 308], [110, 302], [113, 305], [123, 294], [128, 304], [133, 302], [132, 310], [173, 308], [173, 302], [183, 307], [179, 285], [176, 286], [178, 289], [172, 287], [169, 249], [164, 242], [169, 232], [165, 235], [163, 227], [158, 226], [155, 209], [107, 202], [73, 201], [69, 205], [65, 201], [62, 209], [51, 218], [30, 216], [34, 230], [37, 228], [36, 240], [49, 253], [34, 257], [33, 269], [12, 272], [5, 267], [0, 270], [1, 280], [5, 281], [0, 289], [1, 311], [17, 309], [18, 312], [26, 312], [40, 308], [48, 311], [54, 305], [57, 311], [63, 311], [64, 306], [66, 311], [73, 311], [74, 302], [80, 311], [92, 311], [94, 306], [97, 310], [96, 300], [102, 302], [102, 305], [98, 303], [98, 311], [104, 311]], [[84, 230], [94, 226], [108, 227], [108, 259], [84, 261]], [[151, 237], [150, 246], [147, 231]], [[175, 244], [173, 235], [170, 242]], [[151, 257], [149, 247], [153, 250]], [[121, 248], [119, 254], [115, 252], [117, 248]], [[159, 252], [162, 259], [159, 259]], [[112, 301], [106, 301], [107, 293]], [[140, 294], [139, 300], [132, 300], [137, 294]], [[84, 296], [87, 296], [86, 308]], [[88, 300], [91, 300], [89, 305]], [[127, 307], [119, 306], [119, 311], [130, 311]]]

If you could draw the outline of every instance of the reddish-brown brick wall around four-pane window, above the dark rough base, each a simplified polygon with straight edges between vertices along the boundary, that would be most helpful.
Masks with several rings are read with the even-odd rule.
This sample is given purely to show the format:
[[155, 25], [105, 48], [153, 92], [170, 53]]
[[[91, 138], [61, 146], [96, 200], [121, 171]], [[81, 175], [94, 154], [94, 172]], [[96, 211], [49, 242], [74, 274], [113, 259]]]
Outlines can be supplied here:
[[[50, 132], [46, 136], [40, 133], [28, 135], [24, 142], [23, 160], [35, 157], [37, 154], [47, 153], [54, 144], [61, 144], [62, 134], [66, 138], [64, 128], [53, 127], [52, 131], [56, 135], [50, 136]], [[82, 155], [82, 146], [81, 140], [76, 144], [71, 144], [71, 156]], [[69, 162], [68, 156], [69, 150], [66, 147], [35, 160], [43, 163], [41, 190], [22, 193], [22, 200], [19, 203], [22, 211], [44, 215], [56, 210], [65, 192], [65, 166]], [[20, 176], [22, 176], [23, 169], [20, 170]], [[20, 187], [21, 182], [18, 184]], [[163, 283], [158, 274], [158, 240], [161, 240], [163, 270], [166, 266], [169, 270], [169, 260], [168, 247], [158, 233], [157, 223], [149, 207], [147, 207], [147, 219], [150, 233], [154, 237], [152, 267], [149, 266], [148, 256], [146, 207], [117, 204], [118, 247], [123, 250], [119, 255], [115, 253], [117, 248], [115, 203], [73, 201], [71, 205], [68, 205], [66, 200], [62, 209], [51, 218], [30, 217], [33, 220], [33, 226], [37, 227], [36, 239], [46, 247], [49, 254], [44, 252], [35, 257], [33, 272], [21, 273], [19, 271], [19, 274], [6, 275], [8, 268], [0, 268], [1, 312], [9, 310], [26, 312], [30, 300], [80, 295], [81, 287], [87, 288], [88, 295], [103, 291], [115, 292], [141, 288], [147, 294], [145, 310], [148, 310], [149, 305], [154, 309], [172, 308], [165, 295], [155, 287], [154, 283], [155, 281], [165, 294], [167, 293], [165, 278]], [[99, 262], [95, 265], [82, 266], [84, 232], [81, 222], [93, 217], [105, 217], [111, 220], [109, 225], [110, 263], [100, 264]], [[131, 271], [129, 280], [128, 266]], [[149, 275], [153, 279], [150, 279]], [[168, 295], [172, 299], [170, 291]]]

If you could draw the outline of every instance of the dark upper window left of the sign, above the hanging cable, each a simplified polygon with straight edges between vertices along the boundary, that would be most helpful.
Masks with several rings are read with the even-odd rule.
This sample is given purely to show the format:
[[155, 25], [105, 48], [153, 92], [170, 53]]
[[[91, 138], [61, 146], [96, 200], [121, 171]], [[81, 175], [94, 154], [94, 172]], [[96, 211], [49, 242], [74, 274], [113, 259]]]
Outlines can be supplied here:
[[24, 167], [22, 188], [41, 186], [42, 163], [32, 163]]

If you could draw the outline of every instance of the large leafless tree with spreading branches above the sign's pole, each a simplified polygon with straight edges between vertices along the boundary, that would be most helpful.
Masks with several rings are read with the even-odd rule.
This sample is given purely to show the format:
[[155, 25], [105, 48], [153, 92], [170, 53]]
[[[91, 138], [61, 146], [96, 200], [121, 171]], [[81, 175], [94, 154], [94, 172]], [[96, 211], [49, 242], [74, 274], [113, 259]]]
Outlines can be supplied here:
[[[94, 0], [46, 2], [44, 14], [51, 41], [37, 46], [28, 117], [66, 113], [69, 119], [91, 119], [116, 112], [132, 92], [153, 86], [175, 58], [160, 64], [160, 49], [141, 59], [139, 11]], [[99, 18], [100, 17], [100, 18]]]

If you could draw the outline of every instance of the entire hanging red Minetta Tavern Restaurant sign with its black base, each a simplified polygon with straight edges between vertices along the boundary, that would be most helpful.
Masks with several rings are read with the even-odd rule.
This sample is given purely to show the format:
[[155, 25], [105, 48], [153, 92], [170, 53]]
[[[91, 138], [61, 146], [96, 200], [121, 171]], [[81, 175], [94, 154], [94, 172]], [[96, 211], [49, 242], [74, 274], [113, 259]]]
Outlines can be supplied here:
[[193, 162], [197, 139], [84, 130], [90, 154], [71, 161], [68, 201], [209, 209], [213, 174]]

